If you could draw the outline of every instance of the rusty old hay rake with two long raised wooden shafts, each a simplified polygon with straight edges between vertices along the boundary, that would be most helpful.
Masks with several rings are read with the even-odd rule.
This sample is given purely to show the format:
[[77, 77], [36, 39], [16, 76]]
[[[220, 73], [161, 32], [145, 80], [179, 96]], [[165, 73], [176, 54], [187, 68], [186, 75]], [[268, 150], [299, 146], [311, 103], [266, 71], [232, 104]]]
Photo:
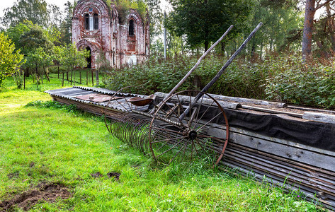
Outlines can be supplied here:
[[[217, 165], [229, 140], [229, 124], [223, 108], [237, 108], [238, 104], [215, 100], [206, 92], [244, 49], [261, 25], [262, 23], [257, 25], [201, 91], [184, 90], [175, 93], [206, 54], [229, 33], [232, 26], [205, 52], [169, 94], [131, 98], [124, 93], [129, 87], [118, 90], [106, 104], [106, 118], [113, 120], [110, 124], [106, 122], [108, 131], [144, 153], [151, 153], [154, 159], [161, 163], [181, 162], [185, 158], [192, 160], [199, 155], [217, 155]], [[123, 112], [117, 115], [108, 114], [110, 105], [119, 107]]]

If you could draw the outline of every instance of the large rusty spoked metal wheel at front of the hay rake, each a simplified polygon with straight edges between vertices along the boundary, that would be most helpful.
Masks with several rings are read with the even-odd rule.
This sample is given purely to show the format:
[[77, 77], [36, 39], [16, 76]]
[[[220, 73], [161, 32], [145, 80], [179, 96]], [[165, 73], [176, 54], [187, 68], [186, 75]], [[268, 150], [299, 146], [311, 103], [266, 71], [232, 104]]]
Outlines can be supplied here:
[[[181, 119], [193, 100], [191, 95], [199, 93], [203, 96]], [[217, 158], [217, 165], [228, 139], [229, 125], [220, 103], [208, 93], [197, 90], [171, 95], [154, 112], [149, 126], [149, 148], [159, 163], [181, 163], [208, 156]]]

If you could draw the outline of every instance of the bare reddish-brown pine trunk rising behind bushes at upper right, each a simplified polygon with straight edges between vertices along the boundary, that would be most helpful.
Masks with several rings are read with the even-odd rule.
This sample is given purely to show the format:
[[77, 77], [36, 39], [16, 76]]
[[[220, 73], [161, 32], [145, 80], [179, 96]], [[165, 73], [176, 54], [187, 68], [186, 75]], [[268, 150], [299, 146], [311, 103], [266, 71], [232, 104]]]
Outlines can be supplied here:
[[302, 62], [312, 57], [312, 33], [315, 14], [315, 0], [307, 0], [305, 7], [304, 33], [302, 35]]

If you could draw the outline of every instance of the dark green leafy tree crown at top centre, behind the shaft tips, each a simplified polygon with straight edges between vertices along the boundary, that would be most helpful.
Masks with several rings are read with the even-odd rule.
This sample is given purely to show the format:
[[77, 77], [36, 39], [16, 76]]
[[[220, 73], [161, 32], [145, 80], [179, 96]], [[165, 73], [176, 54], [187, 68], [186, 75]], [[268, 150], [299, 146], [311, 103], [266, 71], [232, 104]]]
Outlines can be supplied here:
[[174, 11], [169, 14], [166, 27], [176, 35], [186, 35], [191, 47], [204, 45], [205, 51], [210, 42], [215, 42], [229, 25], [234, 37], [245, 28], [249, 16], [249, 0], [170, 0]]

